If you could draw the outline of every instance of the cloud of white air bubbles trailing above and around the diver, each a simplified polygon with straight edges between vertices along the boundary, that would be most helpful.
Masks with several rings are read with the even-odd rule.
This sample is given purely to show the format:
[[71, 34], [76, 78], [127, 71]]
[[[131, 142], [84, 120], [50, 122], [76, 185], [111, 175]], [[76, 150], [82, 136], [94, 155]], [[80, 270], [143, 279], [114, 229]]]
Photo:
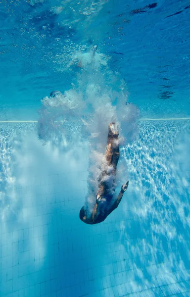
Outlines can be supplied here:
[[[95, 201], [99, 177], [103, 171], [108, 172], [104, 178], [110, 191], [113, 191], [116, 186], [113, 168], [107, 167], [104, 155], [109, 124], [115, 122], [119, 130], [119, 138], [114, 141], [114, 147], [134, 140], [138, 134], [139, 110], [132, 103], [126, 105], [127, 91], [123, 80], [119, 82], [117, 90], [112, 89], [113, 82], [118, 80], [118, 74], [116, 77], [110, 71], [108, 61], [109, 57], [98, 53], [96, 45], [88, 51], [82, 46], [81, 51], [77, 51], [68, 64], [71, 70], [73, 67], [79, 68], [75, 87], [73, 88], [71, 82], [71, 89], [63, 92], [62, 95], [53, 98], [45, 97], [41, 100], [43, 107], [39, 111], [41, 116], [38, 122], [39, 137], [45, 142], [54, 141], [55, 136], [61, 142], [64, 135], [72, 146], [77, 144], [76, 140], [89, 138], [91, 153], [88, 204]], [[116, 98], [118, 103], [113, 105]], [[64, 124], [60, 121], [64, 121]], [[69, 127], [72, 124], [74, 131], [74, 123], [77, 130], [76, 133], [71, 133]], [[124, 175], [126, 169], [122, 170]], [[91, 205], [89, 207], [91, 208]]]

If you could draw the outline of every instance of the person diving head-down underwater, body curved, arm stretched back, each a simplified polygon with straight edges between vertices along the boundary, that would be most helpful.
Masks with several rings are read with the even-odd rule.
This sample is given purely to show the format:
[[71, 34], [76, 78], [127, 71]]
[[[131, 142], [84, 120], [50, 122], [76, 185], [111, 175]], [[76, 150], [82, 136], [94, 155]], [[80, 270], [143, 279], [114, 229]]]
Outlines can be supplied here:
[[[88, 214], [87, 208], [83, 206], [80, 210], [80, 219], [86, 224], [97, 224], [103, 222], [106, 217], [119, 205], [124, 192], [127, 190], [129, 181], [122, 185], [117, 199], [112, 203], [115, 194], [115, 175], [119, 161], [119, 132], [115, 123], [110, 123], [108, 128], [107, 147], [105, 152], [106, 169], [102, 170], [99, 177], [96, 202], [92, 213]], [[111, 181], [111, 185], [110, 185]]]

